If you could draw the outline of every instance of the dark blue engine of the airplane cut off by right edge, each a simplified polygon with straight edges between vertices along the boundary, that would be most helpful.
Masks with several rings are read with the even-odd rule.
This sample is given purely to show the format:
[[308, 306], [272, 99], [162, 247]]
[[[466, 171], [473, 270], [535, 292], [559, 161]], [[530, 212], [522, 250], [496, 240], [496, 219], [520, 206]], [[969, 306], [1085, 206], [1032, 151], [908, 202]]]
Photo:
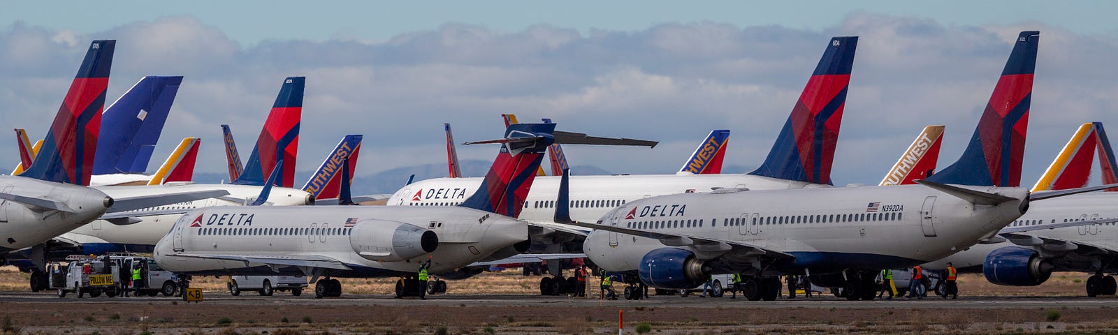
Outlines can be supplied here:
[[1052, 276], [1052, 266], [1034, 250], [1005, 247], [986, 255], [982, 265], [986, 280], [997, 285], [1036, 286]]

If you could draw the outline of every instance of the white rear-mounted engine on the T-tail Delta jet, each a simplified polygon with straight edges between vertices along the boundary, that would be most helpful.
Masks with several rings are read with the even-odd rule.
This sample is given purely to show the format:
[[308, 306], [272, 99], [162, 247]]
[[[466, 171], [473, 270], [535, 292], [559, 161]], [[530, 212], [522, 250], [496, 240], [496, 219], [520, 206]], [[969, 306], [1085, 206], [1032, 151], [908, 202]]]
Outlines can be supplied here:
[[434, 231], [397, 221], [361, 220], [350, 234], [350, 247], [362, 258], [375, 261], [400, 261], [435, 251]]

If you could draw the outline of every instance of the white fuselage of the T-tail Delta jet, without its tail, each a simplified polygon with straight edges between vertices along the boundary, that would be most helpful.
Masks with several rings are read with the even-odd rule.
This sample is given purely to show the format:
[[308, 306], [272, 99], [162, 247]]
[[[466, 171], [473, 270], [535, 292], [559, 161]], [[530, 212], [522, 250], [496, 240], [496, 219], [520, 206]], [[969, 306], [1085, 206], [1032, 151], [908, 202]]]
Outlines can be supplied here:
[[[400, 226], [433, 231], [437, 248], [394, 258], [378, 253], [396, 247], [392, 241], [372, 241], [386, 234], [359, 233], [385, 228], [391, 240], [391, 229]], [[414, 274], [428, 259], [433, 274], [453, 271], [527, 238], [523, 221], [462, 207], [214, 208], [183, 216], [157, 245], [155, 260], [177, 272], [217, 275], [274, 272], [265, 264], [174, 255], [331, 259], [351, 268], [330, 270], [331, 276], [388, 277]]]

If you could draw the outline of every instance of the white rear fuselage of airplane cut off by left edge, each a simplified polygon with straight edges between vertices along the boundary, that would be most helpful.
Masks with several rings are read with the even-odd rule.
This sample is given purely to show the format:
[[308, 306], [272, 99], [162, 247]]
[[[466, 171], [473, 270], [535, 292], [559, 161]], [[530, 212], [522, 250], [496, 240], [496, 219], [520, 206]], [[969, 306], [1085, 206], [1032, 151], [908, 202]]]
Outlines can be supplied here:
[[15, 201], [0, 201], [0, 253], [45, 242], [88, 223], [107, 210], [105, 193], [79, 185], [0, 175], [0, 190], [22, 197], [65, 203], [74, 212], [32, 210]]

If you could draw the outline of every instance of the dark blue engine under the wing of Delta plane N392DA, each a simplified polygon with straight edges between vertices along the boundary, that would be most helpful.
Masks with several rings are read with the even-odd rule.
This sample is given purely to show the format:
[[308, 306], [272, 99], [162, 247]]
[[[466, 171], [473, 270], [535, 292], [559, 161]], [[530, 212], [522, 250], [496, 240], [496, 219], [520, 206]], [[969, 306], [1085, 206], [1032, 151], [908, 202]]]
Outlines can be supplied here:
[[654, 288], [692, 288], [710, 277], [710, 266], [695, 259], [694, 252], [689, 250], [660, 248], [641, 258], [637, 274], [641, 281]]

